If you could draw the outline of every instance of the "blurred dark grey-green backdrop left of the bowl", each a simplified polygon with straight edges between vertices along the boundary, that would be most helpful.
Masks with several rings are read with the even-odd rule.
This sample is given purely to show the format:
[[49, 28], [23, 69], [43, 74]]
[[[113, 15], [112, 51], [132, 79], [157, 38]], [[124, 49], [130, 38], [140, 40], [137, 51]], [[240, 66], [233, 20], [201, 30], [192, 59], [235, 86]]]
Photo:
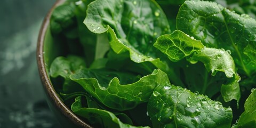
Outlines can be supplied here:
[[60, 127], [45, 101], [36, 63], [43, 19], [53, 0], [0, 4], [0, 127]]

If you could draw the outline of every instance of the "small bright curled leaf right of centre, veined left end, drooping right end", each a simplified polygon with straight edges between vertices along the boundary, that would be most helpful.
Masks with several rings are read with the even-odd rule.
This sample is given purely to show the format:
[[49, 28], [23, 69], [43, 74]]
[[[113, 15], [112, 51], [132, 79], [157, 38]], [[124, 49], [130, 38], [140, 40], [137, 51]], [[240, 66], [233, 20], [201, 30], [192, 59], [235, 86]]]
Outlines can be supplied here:
[[178, 61], [185, 57], [190, 57], [190, 62], [201, 61], [208, 71], [215, 75], [217, 71], [222, 71], [227, 78], [232, 78], [227, 84], [222, 85], [221, 94], [225, 101], [232, 99], [239, 100], [240, 77], [235, 73], [235, 63], [228, 51], [204, 47], [200, 41], [194, 37], [189, 37], [180, 30], [173, 31], [170, 35], [160, 36], [154, 44], [157, 49], [168, 55], [170, 60]]

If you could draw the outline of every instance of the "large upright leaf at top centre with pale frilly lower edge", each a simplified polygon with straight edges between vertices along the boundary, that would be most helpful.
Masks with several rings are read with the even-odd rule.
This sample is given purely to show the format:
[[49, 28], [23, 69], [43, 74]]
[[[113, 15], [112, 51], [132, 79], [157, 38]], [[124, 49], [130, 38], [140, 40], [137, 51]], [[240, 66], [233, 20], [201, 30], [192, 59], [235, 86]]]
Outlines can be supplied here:
[[[107, 5], [107, 6], [102, 6]], [[85, 25], [93, 33], [107, 33], [116, 53], [130, 52], [134, 62], [152, 62], [167, 69], [157, 57], [153, 42], [170, 33], [164, 12], [155, 1], [97, 0], [88, 5]]]

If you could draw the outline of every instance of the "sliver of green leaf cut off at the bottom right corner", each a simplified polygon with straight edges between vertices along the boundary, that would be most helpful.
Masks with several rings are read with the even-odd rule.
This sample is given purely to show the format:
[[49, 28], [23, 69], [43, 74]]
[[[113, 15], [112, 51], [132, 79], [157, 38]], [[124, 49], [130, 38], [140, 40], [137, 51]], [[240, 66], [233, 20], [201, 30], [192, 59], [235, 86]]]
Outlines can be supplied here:
[[256, 125], [256, 90], [252, 89], [252, 93], [244, 103], [244, 113], [240, 116], [236, 127], [254, 127]]

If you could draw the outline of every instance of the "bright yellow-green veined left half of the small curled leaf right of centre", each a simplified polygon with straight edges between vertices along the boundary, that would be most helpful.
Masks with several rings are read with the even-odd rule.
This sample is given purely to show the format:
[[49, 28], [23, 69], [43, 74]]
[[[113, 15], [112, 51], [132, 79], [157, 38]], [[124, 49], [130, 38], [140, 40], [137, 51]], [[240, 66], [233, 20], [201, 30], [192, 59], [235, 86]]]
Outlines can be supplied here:
[[175, 30], [170, 35], [158, 37], [154, 46], [168, 55], [169, 59], [174, 62], [194, 52], [199, 52], [204, 47], [201, 41], [196, 41], [180, 30]]

